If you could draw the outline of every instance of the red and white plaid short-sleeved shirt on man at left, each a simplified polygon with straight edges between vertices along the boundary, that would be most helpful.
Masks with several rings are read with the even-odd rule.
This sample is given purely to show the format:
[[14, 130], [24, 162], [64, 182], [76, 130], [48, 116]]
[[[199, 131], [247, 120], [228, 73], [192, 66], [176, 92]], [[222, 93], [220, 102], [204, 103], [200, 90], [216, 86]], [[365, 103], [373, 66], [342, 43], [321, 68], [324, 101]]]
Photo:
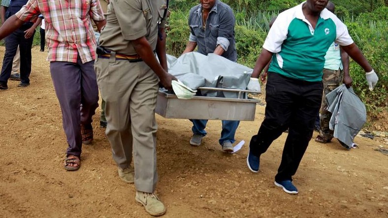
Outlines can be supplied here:
[[46, 20], [48, 61], [82, 63], [96, 57], [96, 38], [90, 19], [104, 20], [98, 0], [29, 0], [16, 13], [23, 21], [35, 20], [42, 14]]

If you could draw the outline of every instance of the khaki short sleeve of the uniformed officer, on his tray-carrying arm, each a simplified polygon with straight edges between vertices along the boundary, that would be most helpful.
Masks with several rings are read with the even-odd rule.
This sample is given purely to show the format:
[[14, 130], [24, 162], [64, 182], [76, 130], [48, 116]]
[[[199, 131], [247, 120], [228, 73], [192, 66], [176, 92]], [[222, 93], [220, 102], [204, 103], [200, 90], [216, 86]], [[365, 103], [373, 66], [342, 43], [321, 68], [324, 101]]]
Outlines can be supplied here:
[[[135, 40], [147, 34], [145, 17], [152, 16], [151, 10], [141, 9], [140, 0], [119, 0], [115, 2], [115, 14], [125, 40]], [[128, 16], [130, 14], [130, 16]]]

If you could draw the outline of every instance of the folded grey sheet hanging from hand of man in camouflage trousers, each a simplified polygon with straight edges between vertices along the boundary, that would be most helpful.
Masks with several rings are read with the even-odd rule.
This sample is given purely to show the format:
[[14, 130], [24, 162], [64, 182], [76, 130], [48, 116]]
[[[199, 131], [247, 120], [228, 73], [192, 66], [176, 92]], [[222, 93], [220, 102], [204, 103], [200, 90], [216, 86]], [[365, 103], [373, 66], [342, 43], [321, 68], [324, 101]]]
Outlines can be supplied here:
[[366, 122], [365, 105], [345, 84], [326, 95], [328, 111], [332, 113], [329, 128], [334, 130], [334, 137], [352, 147], [353, 140]]

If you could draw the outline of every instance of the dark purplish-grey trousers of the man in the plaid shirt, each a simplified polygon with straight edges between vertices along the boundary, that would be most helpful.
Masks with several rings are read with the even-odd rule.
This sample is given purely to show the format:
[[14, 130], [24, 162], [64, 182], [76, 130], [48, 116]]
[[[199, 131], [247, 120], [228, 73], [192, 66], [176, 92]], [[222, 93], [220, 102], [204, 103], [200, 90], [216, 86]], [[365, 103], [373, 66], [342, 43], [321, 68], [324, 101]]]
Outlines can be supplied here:
[[77, 63], [50, 62], [55, 93], [62, 110], [62, 121], [69, 147], [67, 156], [80, 157], [82, 151], [81, 123], [91, 124], [98, 107], [98, 87], [94, 61]]

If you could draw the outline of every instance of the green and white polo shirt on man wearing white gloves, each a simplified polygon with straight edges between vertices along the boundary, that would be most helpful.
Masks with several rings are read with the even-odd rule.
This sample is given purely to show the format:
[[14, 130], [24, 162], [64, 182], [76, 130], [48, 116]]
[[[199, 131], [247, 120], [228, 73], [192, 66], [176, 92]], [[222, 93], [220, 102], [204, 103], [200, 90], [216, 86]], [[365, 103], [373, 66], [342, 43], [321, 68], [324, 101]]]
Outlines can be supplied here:
[[353, 40], [345, 24], [326, 8], [314, 29], [303, 15], [304, 3], [279, 14], [263, 48], [274, 53], [269, 72], [297, 80], [320, 82], [329, 46], [333, 41], [347, 46]]

